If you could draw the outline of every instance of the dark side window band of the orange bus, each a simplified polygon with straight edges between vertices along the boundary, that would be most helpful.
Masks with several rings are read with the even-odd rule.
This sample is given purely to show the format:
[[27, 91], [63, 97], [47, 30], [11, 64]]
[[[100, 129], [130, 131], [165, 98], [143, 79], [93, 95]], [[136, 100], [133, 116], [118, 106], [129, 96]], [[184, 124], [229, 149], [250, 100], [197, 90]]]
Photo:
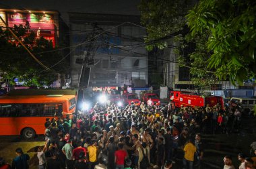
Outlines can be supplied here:
[[53, 117], [62, 116], [61, 103], [0, 104], [0, 117]]

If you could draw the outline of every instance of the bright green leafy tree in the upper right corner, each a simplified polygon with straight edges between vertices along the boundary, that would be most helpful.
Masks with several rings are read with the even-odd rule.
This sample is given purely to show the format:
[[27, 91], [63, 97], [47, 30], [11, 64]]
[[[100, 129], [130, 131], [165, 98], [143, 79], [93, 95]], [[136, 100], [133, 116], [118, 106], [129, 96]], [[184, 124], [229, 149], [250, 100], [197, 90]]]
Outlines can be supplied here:
[[256, 75], [256, 1], [200, 1], [187, 15], [191, 36], [204, 37], [208, 69], [242, 83]]

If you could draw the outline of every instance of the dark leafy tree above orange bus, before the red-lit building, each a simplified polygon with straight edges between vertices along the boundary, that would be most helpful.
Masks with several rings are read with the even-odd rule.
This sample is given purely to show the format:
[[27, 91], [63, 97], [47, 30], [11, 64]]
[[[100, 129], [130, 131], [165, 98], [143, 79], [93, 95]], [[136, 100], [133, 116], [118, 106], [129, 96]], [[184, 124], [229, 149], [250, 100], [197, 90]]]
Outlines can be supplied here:
[[[35, 54], [48, 68], [63, 58], [58, 48], [53, 48], [51, 41], [40, 37], [34, 32], [26, 34], [29, 24], [15, 25], [12, 30], [16, 36]], [[63, 59], [49, 70], [45, 70], [34, 58], [28, 54], [24, 47], [11, 35], [9, 30], [0, 27], [0, 76], [1, 81], [15, 84], [14, 79], [24, 81], [25, 85], [41, 87], [49, 86], [57, 80], [57, 73], [65, 74], [69, 66], [68, 58]]]

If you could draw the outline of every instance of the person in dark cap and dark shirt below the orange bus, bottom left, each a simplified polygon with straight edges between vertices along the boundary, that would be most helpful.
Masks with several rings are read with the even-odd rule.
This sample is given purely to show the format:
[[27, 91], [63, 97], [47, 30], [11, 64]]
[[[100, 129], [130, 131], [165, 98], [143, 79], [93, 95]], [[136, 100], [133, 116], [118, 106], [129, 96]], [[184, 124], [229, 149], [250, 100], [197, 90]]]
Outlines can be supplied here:
[[30, 160], [30, 156], [28, 156], [28, 154], [24, 154], [22, 148], [17, 148], [15, 152], [17, 156], [13, 159], [11, 168], [28, 169], [28, 160]]

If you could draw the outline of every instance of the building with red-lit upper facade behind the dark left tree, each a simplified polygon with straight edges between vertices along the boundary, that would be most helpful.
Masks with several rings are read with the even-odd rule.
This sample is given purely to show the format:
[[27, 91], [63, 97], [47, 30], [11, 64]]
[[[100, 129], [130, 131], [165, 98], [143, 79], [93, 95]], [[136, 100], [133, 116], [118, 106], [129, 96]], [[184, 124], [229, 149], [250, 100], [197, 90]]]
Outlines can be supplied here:
[[[26, 29], [26, 36], [32, 32], [36, 38], [43, 37], [53, 43], [53, 48], [61, 46], [58, 50], [61, 55], [68, 56], [69, 54], [69, 27], [61, 20], [58, 11], [38, 11], [33, 9], [4, 9], [0, 7], [0, 26], [14, 27], [14, 25], [29, 24]], [[68, 58], [68, 57], [66, 57]], [[58, 74], [59, 78], [51, 87], [62, 87], [64, 79], [69, 74]], [[66, 76], [66, 77], [65, 77]]]

